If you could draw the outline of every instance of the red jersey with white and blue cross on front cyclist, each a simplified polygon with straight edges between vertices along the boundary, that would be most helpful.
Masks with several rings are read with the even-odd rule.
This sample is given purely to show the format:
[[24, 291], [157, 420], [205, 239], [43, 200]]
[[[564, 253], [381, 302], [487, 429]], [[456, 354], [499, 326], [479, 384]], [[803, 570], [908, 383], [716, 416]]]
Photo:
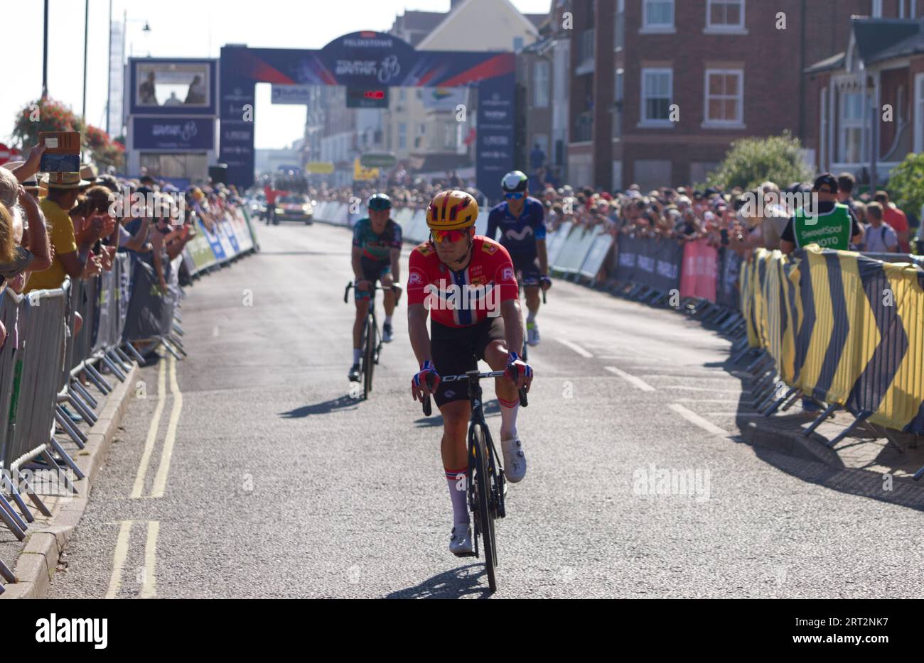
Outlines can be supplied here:
[[507, 249], [475, 235], [471, 260], [450, 270], [430, 242], [415, 247], [407, 271], [407, 304], [430, 308], [432, 319], [447, 327], [468, 327], [501, 314], [501, 303], [517, 298], [517, 277]]

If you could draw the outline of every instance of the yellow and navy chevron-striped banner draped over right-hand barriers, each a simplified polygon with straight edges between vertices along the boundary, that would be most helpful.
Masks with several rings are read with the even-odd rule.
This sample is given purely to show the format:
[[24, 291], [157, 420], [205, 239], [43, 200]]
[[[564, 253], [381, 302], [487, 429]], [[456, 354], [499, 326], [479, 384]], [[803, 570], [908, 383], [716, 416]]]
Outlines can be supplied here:
[[810, 246], [742, 271], [751, 347], [789, 386], [872, 424], [924, 432], [924, 270]]

